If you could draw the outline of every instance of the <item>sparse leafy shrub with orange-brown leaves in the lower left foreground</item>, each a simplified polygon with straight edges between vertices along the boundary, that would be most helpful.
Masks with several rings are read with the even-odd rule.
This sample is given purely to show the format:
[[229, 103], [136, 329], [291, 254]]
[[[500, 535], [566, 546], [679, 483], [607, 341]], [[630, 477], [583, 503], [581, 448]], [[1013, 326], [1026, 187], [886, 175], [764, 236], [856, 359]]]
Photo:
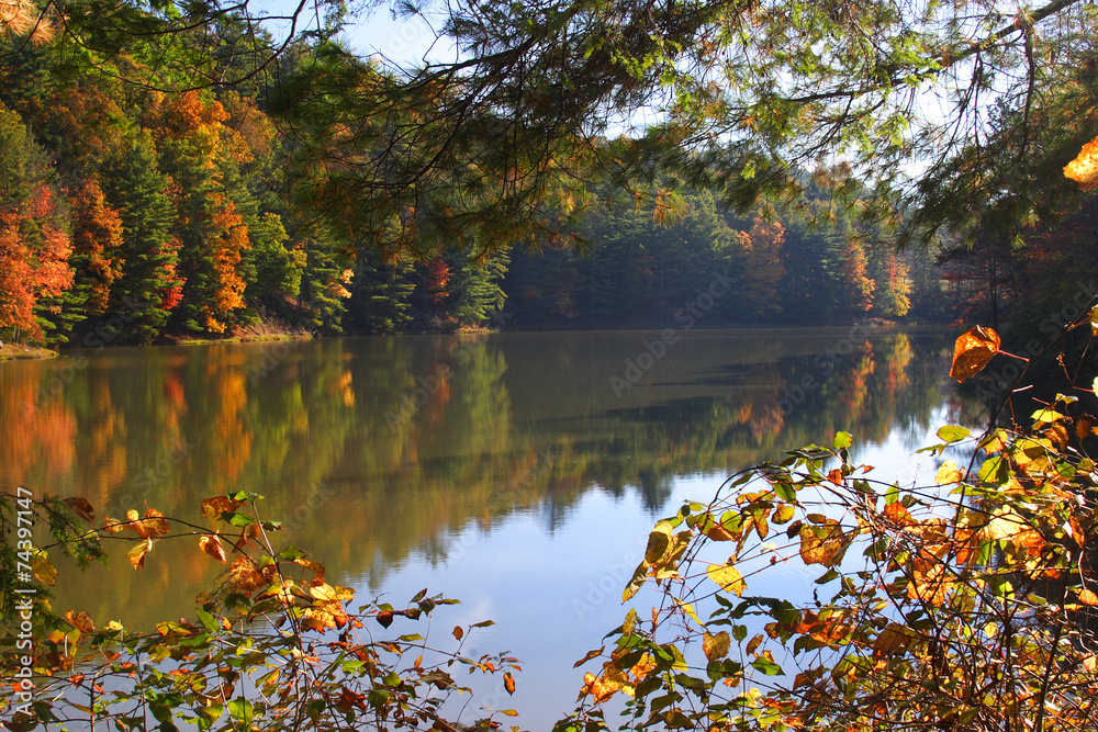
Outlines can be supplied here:
[[[325, 582], [325, 567], [294, 547], [272, 548], [278, 522], [260, 520], [256, 494], [205, 500], [200, 526], [168, 519], [155, 509], [125, 521], [107, 518], [88, 529], [92, 507], [83, 499], [4, 494], [0, 503], [5, 538], [19, 536], [19, 511], [51, 526], [66, 551], [82, 559], [101, 554], [103, 534], [137, 534], [127, 553], [141, 570], [149, 551], [165, 539], [198, 539], [199, 547], [227, 564], [219, 586], [198, 597], [197, 619], [165, 621], [153, 632], [126, 630], [116, 622], [97, 629], [86, 612], [53, 615], [47, 599], [20, 595], [15, 567], [53, 585], [56, 571], [44, 551], [4, 544], [3, 623], [0, 689], [4, 724], [15, 730], [53, 725], [113, 723], [127, 730], [251, 729], [495, 729], [491, 716], [469, 725], [449, 721], [462, 711], [450, 700], [468, 689], [453, 672], [500, 673], [514, 690], [506, 655], [469, 658], [461, 646], [441, 651], [421, 633], [374, 638], [374, 622], [389, 628], [396, 617], [429, 627], [438, 606], [453, 599], [424, 589], [404, 608], [370, 603], [350, 609], [354, 590]], [[24, 515], [30, 516], [30, 514]], [[213, 527], [213, 528], [211, 528]], [[232, 536], [231, 536], [232, 534]], [[132, 534], [131, 534], [132, 536]], [[161, 550], [163, 551], [163, 550]], [[229, 561], [229, 554], [238, 554]], [[23, 563], [24, 566], [20, 566]], [[22, 585], [22, 586], [21, 586]], [[34, 598], [27, 607], [24, 598]], [[31, 618], [32, 652], [21, 642], [20, 615]], [[474, 623], [478, 628], [491, 621]], [[468, 629], [456, 627], [463, 644]], [[24, 631], [26, 632], [26, 631]], [[23, 683], [26, 679], [26, 683]], [[504, 710], [498, 713], [514, 716]], [[516, 728], [517, 729], [517, 728]]]

